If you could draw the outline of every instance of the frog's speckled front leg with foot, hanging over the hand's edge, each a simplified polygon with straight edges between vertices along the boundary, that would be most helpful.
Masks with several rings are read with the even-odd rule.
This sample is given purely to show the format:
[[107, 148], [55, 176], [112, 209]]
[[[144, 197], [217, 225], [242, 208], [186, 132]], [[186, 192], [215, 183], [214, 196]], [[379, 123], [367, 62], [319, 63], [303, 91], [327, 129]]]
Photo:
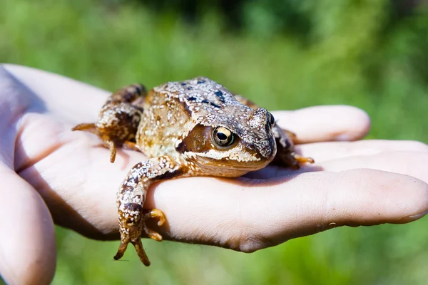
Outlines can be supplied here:
[[180, 164], [168, 155], [155, 157], [136, 164], [126, 176], [117, 193], [121, 245], [114, 259], [120, 259], [131, 242], [136, 248], [138, 257], [144, 265], [150, 261], [144, 252], [141, 235], [147, 234], [151, 239], [162, 241], [161, 234], [146, 226], [146, 220], [158, 217], [159, 225], [165, 222], [165, 216], [159, 209], [143, 210], [148, 187], [158, 180], [183, 176]]

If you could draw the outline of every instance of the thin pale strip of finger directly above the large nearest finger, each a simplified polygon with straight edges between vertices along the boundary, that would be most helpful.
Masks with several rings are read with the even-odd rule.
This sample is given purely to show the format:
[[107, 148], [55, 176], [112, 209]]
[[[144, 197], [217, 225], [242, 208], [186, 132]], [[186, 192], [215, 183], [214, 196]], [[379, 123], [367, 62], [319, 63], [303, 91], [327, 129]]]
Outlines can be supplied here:
[[344, 171], [355, 168], [370, 168], [395, 172], [417, 177], [428, 182], [427, 172], [428, 152], [381, 152], [376, 155], [345, 157], [340, 160], [331, 160], [320, 163], [326, 171]]

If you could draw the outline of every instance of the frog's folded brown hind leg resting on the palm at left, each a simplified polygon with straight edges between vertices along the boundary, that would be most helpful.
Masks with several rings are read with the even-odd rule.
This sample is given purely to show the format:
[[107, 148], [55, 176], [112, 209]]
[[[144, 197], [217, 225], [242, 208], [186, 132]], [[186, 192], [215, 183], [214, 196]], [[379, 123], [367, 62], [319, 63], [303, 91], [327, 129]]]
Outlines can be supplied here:
[[138, 150], [135, 138], [145, 96], [146, 88], [141, 84], [121, 88], [108, 97], [97, 123], [83, 123], [72, 130], [85, 130], [98, 135], [110, 150], [110, 161], [114, 162], [116, 147]]

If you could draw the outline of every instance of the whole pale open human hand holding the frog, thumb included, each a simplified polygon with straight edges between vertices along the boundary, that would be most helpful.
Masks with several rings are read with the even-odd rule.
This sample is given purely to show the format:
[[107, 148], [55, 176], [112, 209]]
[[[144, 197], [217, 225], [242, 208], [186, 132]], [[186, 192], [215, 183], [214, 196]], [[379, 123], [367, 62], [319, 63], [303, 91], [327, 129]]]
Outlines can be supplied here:
[[[71, 132], [96, 121], [107, 95], [52, 73], [0, 66], [0, 273], [7, 283], [49, 284], [54, 223], [92, 239], [118, 239], [116, 190], [145, 157], [118, 150], [111, 164], [95, 135]], [[370, 128], [367, 114], [350, 106], [273, 115], [315, 165], [157, 183], [145, 207], [162, 209], [168, 222], [151, 227], [164, 239], [254, 252], [333, 227], [401, 224], [427, 213], [427, 145], [350, 142]]]

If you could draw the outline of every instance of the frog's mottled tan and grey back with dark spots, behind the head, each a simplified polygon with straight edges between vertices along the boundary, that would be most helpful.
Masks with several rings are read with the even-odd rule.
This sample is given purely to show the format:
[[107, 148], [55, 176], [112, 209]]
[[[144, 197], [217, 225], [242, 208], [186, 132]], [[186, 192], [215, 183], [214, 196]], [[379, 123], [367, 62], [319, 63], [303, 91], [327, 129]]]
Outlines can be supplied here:
[[168, 82], [148, 93], [137, 144], [148, 157], [175, 156], [176, 142], [195, 125], [236, 125], [234, 117], [243, 113], [250, 108], [208, 78]]

